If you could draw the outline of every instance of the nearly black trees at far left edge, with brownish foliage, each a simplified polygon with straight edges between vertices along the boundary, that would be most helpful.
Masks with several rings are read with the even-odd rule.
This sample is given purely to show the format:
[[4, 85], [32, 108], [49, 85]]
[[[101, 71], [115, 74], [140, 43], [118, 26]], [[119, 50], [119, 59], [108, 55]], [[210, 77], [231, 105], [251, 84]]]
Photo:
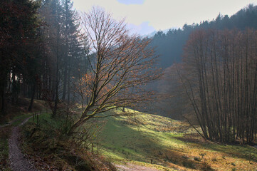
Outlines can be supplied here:
[[[6, 113], [6, 96], [11, 94], [17, 102], [21, 83], [33, 81], [28, 78], [28, 62], [37, 61], [40, 47], [37, 17], [38, 1], [1, 1], [0, 2], [0, 108]], [[9, 83], [9, 86], [7, 85]], [[12, 83], [12, 85], [11, 85]], [[6, 87], [9, 87], [6, 89]]]

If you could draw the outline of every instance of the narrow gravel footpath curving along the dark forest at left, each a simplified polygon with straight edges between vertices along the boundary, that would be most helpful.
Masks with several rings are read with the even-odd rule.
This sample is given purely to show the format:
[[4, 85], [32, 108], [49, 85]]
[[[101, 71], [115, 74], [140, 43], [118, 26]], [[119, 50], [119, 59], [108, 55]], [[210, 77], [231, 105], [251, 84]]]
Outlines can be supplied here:
[[19, 132], [20, 132], [19, 127], [24, 123], [28, 122], [28, 120], [31, 117], [28, 117], [25, 120], [23, 120], [23, 123], [21, 123], [18, 126], [15, 126], [11, 131], [11, 136], [9, 138], [8, 144], [9, 144], [10, 166], [11, 166], [11, 170], [13, 171], [35, 171], [36, 170], [36, 168], [30, 162], [28, 162], [26, 157], [21, 153], [21, 149], [19, 149]]

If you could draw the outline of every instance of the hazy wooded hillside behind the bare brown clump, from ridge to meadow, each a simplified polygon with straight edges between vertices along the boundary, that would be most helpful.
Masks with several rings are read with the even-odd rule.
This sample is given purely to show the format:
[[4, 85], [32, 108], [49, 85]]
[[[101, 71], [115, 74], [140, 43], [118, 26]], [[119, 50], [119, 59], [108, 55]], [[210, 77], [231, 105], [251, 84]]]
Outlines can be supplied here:
[[[184, 24], [183, 28], [172, 29], [167, 33], [158, 31], [152, 40], [152, 46], [156, 47], [159, 55], [159, 67], [164, 69], [164, 76], [154, 85], [161, 94], [157, 108], [160, 114], [182, 119], [185, 113], [192, 113], [191, 105], [188, 105], [187, 94], [185, 94], [180, 78], [177, 75], [181, 64], [174, 66], [174, 63], [182, 63], [184, 48], [189, 41], [189, 36], [197, 30], [229, 30], [246, 28], [257, 28], [257, 6], [248, 5], [232, 16], [219, 14], [212, 21], [202, 21], [200, 24]], [[158, 86], [157, 86], [158, 85]]]

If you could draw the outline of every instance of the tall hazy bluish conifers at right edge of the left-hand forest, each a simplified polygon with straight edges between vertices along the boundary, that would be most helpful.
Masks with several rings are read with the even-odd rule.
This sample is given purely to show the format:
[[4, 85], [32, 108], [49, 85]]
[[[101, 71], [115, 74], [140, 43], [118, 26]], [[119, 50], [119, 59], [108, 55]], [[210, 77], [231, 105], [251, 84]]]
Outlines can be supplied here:
[[78, 14], [70, 0], [42, 1], [38, 13], [45, 24], [42, 30], [45, 46], [41, 49], [43, 69], [41, 76], [38, 76], [41, 82], [38, 97], [48, 101], [55, 117], [59, 110], [58, 103], [67, 103], [68, 107], [70, 98], [75, 100], [70, 92], [80, 74], [85, 73], [82, 68], [85, 66], [82, 61], [84, 47], [79, 39]]

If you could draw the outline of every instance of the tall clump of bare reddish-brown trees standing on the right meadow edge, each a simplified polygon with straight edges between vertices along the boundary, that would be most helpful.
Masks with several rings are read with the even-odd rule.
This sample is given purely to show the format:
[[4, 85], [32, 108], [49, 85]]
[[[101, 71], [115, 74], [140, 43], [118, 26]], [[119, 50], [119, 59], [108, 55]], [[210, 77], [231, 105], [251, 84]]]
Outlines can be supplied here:
[[184, 86], [203, 136], [256, 140], [257, 31], [199, 30], [184, 52]]

